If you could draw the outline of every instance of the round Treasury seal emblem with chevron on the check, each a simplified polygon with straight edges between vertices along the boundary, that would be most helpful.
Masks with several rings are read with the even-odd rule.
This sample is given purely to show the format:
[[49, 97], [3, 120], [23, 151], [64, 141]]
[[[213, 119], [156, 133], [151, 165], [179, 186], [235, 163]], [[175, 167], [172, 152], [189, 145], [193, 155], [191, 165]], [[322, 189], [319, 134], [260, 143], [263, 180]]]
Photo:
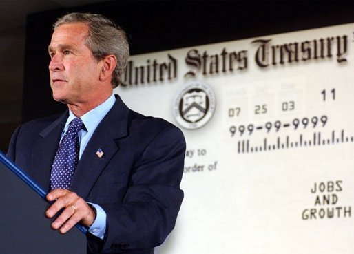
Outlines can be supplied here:
[[213, 89], [200, 81], [188, 83], [174, 100], [174, 117], [181, 127], [197, 129], [214, 115], [216, 98]]

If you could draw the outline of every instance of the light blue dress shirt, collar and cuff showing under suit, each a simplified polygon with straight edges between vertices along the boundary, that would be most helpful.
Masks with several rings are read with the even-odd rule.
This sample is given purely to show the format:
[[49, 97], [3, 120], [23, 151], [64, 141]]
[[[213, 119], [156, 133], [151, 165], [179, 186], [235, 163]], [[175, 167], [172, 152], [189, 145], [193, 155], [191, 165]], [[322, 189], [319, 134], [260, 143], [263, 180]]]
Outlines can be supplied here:
[[[98, 126], [99, 123], [101, 123], [101, 120], [105, 117], [105, 115], [107, 115], [110, 109], [112, 109], [115, 102], [116, 102], [116, 98], [114, 97], [114, 94], [112, 94], [110, 98], [107, 98], [107, 100], [105, 100], [104, 103], [98, 105], [94, 109], [90, 110], [89, 112], [81, 116], [81, 120], [83, 121], [85, 128], [79, 131], [79, 141], [80, 141], [79, 158], [81, 158], [83, 151], [85, 151], [86, 145], [90, 141], [92, 134], [94, 134], [96, 127]], [[67, 118], [67, 121], [65, 123], [65, 127], [63, 133], [61, 134], [61, 138], [63, 138], [67, 129], [69, 129], [69, 124], [74, 118], [76, 118], [76, 116], [69, 110], [69, 117]], [[92, 206], [96, 208], [97, 216], [96, 216], [96, 220], [94, 220], [94, 223], [90, 226], [88, 231], [92, 233], [92, 235], [95, 235], [96, 237], [103, 239], [105, 235], [107, 215], [105, 211], [103, 211], [102, 207], [100, 207], [98, 204], [92, 204]]]

